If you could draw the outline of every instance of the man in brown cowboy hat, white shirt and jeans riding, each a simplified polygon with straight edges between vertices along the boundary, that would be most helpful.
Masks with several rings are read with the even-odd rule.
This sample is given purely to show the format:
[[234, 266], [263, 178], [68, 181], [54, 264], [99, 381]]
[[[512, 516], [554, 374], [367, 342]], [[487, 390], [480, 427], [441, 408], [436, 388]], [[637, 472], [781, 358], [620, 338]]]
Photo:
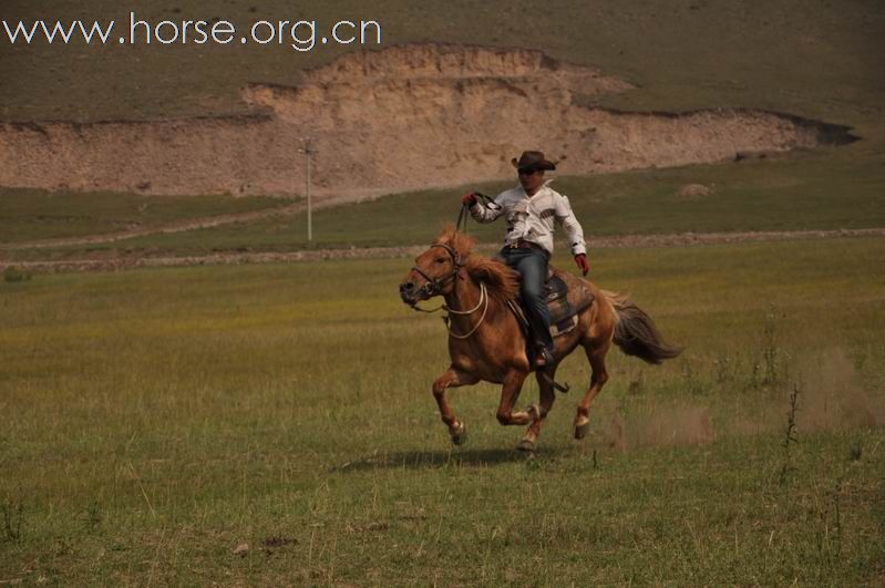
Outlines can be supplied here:
[[464, 196], [471, 216], [477, 223], [492, 223], [507, 216], [507, 236], [501, 257], [522, 276], [522, 298], [538, 348], [535, 365], [543, 368], [554, 362], [550, 337], [550, 317], [544, 295], [547, 262], [553, 255], [554, 221], [563, 225], [572, 244], [575, 262], [584, 276], [590, 269], [584, 230], [568, 198], [549, 187], [545, 171], [556, 169], [553, 162], [539, 151], [526, 151], [511, 163], [517, 169], [519, 186], [502, 192], [487, 206], [481, 204], [476, 193]]

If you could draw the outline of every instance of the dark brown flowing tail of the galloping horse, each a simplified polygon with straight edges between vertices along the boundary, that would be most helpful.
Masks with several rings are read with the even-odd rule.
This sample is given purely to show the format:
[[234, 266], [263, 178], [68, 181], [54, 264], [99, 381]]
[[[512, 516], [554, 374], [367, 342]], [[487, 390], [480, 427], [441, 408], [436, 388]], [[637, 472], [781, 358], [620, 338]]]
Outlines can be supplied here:
[[618, 314], [613, 341], [621, 351], [648, 363], [661, 363], [682, 352], [682, 348], [672, 347], [663, 340], [651, 317], [627, 296], [608, 291], [603, 293]]

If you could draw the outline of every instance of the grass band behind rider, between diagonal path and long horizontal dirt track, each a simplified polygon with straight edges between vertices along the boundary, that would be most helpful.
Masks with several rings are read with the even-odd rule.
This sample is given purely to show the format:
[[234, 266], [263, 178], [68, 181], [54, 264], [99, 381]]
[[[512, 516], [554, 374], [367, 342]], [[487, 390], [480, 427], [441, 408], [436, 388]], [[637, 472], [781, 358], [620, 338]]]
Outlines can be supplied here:
[[[843, 147], [785, 159], [692, 165], [554, 183], [569, 196], [588, 237], [747, 230], [854, 229], [885, 226], [883, 163], [855, 163], [857, 151]], [[712, 194], [679, 195], [687, 184]], [[480, 186], [490, 195], [508, 184]], [[428, 241], [443, 223], [454, 221], [467, 188], [401, 194], [370, 203], [320, 209], [313, 215], [312, 247], [371, 247]], [[408, 220], [407, 220], [408, 219]], [[503, 220], [469, 231], [486, 243], [503, 238]], [[308, 248], [307, 218], [291, 217], [172, 235], [152, 235], [115, 244], [20, 251], [14, 259], [75, 258], [124, 248], [134, 255], [199, 255], [216, 250], [297, 250]]]

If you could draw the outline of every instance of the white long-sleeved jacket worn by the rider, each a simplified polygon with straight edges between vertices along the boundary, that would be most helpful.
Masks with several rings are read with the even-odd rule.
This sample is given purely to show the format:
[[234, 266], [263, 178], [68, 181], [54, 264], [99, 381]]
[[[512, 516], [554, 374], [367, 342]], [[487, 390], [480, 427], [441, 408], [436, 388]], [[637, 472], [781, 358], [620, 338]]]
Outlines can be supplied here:
[[568, 235], [572, 255], [587, 252], [584, 229], [580, 228], [568, 198], [549, 187], [547, 180], [531, 198], [522, 186], [502, 192], [494, 205], [476, 203], [470, 207], [471, 216], [477, 223], [492, 223], [501, 215], [507, 216], [507, 237], [505, 245], [518, 240], [535, 243], [553, 255], [554, 221], [559, 223]]

